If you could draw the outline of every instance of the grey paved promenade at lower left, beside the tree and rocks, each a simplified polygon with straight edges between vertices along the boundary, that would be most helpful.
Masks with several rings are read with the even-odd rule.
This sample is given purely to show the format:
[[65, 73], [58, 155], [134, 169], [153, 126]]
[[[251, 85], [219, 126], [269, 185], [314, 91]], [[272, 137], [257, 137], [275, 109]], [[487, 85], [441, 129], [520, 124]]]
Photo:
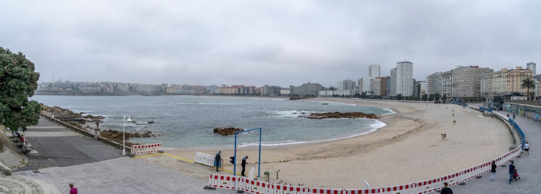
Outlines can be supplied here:
[[29, 164], [13, 175], [0, 173], [0, 193], [69, 193], [69, 183], [80, 193], [234, 193], [203, 189], [212, 169], [182, 161], [170, 169], [123, 157], [121, 150], [47, 119], [26, 135], [39, 153], [27, 155]]

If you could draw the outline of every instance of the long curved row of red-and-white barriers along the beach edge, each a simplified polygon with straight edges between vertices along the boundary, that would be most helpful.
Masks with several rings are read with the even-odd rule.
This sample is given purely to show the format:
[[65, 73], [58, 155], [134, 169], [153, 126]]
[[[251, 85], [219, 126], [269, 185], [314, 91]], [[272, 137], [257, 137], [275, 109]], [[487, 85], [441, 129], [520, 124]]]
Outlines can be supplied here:
[[[502, 166], [509, 162], [511, 159], [516, 158], [522, 151], [522, 145], [519, 148], [511, 150], [504, 155], [493, 159], [496, 161], [496, 165]], [[212, 175], [210, 174], [208, 185], [215, 188], [242, 190], [250, 193], [269, 193], [269, 194], [312, 194], [312, 193], [326, 193], [326, 194], [364, 194], [364, 193], [393, 193], [393, 194], [409, 194], [409, 193], [427, 193], [440, 190], [443, 188], [444, 182], [447, 182], [450, 186], [456, 185], [466, 180], [483, 175], [491, 170], [492, 160], [480, 165], [472, 166], [472, 168], [461, 170], [451, 175], [433, 178], [430, 180], [424, 180], [412, 184], [404, 184], [398, 186], [388, 186], [384, 188], [371, 188], [371, 189], [323, 189], [323, 188], [308, 188], [300, 186], [288, 186], [272, 183], [265, 183], [258, 180], [250, 179], [249, 177], [235, 177], [224, 175]], [[251, 173], [251, 171], [250, 171]]]

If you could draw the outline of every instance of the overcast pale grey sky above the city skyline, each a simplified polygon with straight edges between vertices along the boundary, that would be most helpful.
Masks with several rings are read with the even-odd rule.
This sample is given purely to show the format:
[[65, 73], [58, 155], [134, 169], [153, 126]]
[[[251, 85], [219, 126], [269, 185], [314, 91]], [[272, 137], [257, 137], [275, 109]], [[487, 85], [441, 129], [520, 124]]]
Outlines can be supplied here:
[[[337, 85], [541, 63], [541, 1], [0, 0], [0, 46], [40, 82]], [[541, 65], [541, 64], [540, 64]], [[537, 73], [541, 71], [538, 67]]]

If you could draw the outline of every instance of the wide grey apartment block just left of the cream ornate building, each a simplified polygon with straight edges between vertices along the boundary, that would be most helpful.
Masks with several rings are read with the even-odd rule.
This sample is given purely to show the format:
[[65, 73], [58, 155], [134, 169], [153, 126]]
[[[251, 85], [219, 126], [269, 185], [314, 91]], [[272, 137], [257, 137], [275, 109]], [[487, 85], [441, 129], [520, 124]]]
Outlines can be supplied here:
[[492, 71], [490, 68], [479, 68], [479, 66], [457, 66], [452, 70], [451, 97], [480, 97], [481, 77]]

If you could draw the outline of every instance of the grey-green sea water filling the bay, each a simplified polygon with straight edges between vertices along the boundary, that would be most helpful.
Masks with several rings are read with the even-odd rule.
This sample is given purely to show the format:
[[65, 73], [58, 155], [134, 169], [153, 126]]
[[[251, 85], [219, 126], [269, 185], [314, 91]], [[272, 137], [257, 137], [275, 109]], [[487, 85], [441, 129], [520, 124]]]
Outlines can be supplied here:
[[[34, 96], [49, 106], [74, 112], [101, 115], [100, 129], [122, 131], [123, 116], [135, 123], [129, 132], [150, 130], [163, 136], [130, 138], [134, 143], [163, 143], [166, 148], [229, 148], [233, 136], [222, 136], [214, 128], [262, 128], [262, 145], [276, 146], [330, 141], [373, 132], [385, 126], [375, 119], [309, 119], [299, 115], [313, 112], [365, 112], [385, 115], [391, 109], [336, 102], [288, 101], [287, 98], [208, 96]], [[324, 105], [322, 103], [328, 103]], [[154, 121], [153, 124], [147, 124]], [[143, 125], [146, 124], [146, 125]], [[93, 123], [84, 125], [95, 126]], [[257, 145], [259, 131], [240, 133], [239, 146]]]

